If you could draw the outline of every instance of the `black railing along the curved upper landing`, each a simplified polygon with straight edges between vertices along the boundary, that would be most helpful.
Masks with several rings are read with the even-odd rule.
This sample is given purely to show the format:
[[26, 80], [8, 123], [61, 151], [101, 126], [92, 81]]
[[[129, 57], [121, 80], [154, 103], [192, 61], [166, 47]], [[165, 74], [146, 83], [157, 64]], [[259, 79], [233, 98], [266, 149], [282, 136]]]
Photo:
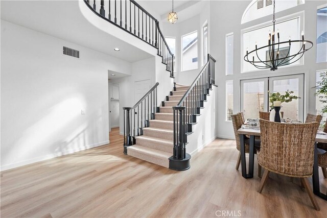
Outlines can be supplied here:
[[[84, 2], [101, 18], [155, 47], [158, 50], [157, 55], [162, 58], [162, 63], [170, 72], [170, 77], [174, 78], [174, 55], [155, 17], [133, 0], [84, 0]], [[108, 9], [107, 14], [105, 8]]]

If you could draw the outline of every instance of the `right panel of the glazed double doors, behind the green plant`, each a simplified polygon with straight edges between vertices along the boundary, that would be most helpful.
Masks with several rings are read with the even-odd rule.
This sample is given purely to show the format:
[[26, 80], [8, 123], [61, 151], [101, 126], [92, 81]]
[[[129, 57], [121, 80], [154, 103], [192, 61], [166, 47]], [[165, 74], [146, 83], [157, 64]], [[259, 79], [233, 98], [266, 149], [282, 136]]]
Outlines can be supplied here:
[[[284, 118], [293, 120], [304, 119], [304, 75], [289, 75], [282, 77], [269, 78], [269, 91], [285, 94], [286, 91], [294, 91], [293, 95], [299, 96], [300, 99], [291, 102], [282, 103], [281, 111], [284, 111]], [[269, 105], [270, 107], [270, 105]]]

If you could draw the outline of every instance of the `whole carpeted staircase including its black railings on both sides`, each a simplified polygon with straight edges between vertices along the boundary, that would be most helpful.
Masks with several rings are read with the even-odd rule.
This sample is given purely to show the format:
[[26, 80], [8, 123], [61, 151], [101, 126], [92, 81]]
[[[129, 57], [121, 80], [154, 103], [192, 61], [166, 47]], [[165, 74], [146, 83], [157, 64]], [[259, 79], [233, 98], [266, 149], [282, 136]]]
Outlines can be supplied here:
[[188, 135], [193, 133], [215, 84], [215, 62], [208, 54], [208, 61], [194, 82], [190, 86], [174, 83], [160, 107], [156, 106], [156, 83], [134, 107], [123, 108], [125, 154], [176, 171], [190, 168]]

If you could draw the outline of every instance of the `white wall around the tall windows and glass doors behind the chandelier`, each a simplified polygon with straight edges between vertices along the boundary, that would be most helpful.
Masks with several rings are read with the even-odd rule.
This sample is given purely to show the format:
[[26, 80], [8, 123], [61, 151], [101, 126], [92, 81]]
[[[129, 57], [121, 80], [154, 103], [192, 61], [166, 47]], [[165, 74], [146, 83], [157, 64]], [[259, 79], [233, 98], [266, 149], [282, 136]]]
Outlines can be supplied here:
[[[315, 86], [316, 70], [325, 69], [326, 63], [316, 63], [316, 11], [317, 6], [325, 4], [325, 1], [306, 1], [306, 4], [287, 9], [276, 13], [276, 18], [294, 14], [296, 12], [305, 12], [305, 34], [306, 39], [314, 42], [314, 47], [305, 54], [305, 65], [278, 68], [272, 72], [260, 70], [256, 72], [247, 72], [241, 74], [241, 30], [252, 27], [258, 23], [269, 22], [272, 16], [259, 18], [241, 25], [241, 19], [244, 10], [251, 1], [211, 1], [211, 54], [217, 60], [216, 63], [216, 84], [218, 85], [218, 136], [224, 138], [234, 138], [232, 124], [225, 121], [225, 81], [233, 80], [233, 112], [237, 113], [240, 108], [240, 89], [239, 84], [242, 79], [251, 79], [259, 77], [283, 76], [291, 74], [305, 74], [305, 113], [315, 113]], [[236, 7], [237, 6], [237, 7]], [[232, 13], [231, 13], [232, 12]], [[228, 19], [228, 22], [226, 21]], [[234, 54], [233, 54], [233, 75], [225, 76], [225, 36], [228, 33], [234, 33]], [[285, 33], [287, 34], [287, 33]], [[266, 37], [266, 36], [263, 36]], [[298, 36], [300, 37], [300, 36]]]

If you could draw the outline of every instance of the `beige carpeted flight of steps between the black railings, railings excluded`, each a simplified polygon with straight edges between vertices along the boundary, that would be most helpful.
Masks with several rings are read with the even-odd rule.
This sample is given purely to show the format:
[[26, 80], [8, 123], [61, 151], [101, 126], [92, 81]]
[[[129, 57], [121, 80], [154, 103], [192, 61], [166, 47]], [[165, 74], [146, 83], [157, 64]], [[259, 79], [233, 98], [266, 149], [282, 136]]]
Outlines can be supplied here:
[[143, 135], [136, 136], [136, 144], [127, 148], [127, 154], [151, 163], [169, 168], [169, 158], [174, 149], [174, 114], [176, 106], [190, 86], [176, 87], [171, 91], [162, 107], [149, 120], [150, 126], [143, 129]]

